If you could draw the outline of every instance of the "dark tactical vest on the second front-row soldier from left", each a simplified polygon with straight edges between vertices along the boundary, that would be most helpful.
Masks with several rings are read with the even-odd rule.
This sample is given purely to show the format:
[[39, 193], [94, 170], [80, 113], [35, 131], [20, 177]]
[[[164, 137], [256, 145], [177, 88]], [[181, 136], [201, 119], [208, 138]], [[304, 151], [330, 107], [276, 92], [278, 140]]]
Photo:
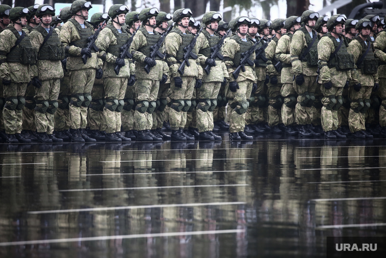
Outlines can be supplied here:
[[[35, 27], [35, 30], [40, 32], [45, 39], [48, 35], [46, 29], [41, 25]], [[38, 52], [38, 60], [63, 60], [65, 56], [65, 48], [60, 42], [59, 35], [57, 35], [55, 29], [51, 27], [52, 35], [48, 38], [46, 43], [40, 47]]]

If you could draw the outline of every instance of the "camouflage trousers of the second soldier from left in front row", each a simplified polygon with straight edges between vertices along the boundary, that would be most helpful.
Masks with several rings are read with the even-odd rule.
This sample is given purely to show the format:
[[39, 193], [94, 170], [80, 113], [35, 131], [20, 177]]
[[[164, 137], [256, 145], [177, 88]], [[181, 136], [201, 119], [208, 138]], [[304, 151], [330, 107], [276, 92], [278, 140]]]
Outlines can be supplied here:
[[[53, 101], [57, 100], [59, 96], [60, 89], [60, 79], [53, 80], [42, 80], [42, 87], [36, 89], [35, 100], [37, 102], [37, 107], [44, 107], [43, 103], [39, 103], [41, 100]], [[48, 110], [55, 110], [55, 107], [49, 103]], [[51, 112], [52, 112], [51, 111]], [[35, 112], [35, 124], [36, 129], [39, 133], [47, 132], [47, 134], [52, 134], [54, 131], [54, 113], [49, 112]]]

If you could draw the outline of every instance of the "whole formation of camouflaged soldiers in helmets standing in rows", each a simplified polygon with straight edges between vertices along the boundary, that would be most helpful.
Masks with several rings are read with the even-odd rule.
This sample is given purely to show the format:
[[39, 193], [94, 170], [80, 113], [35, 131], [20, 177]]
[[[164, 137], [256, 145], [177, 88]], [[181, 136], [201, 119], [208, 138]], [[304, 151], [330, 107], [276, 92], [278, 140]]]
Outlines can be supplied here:
[[213, 11], [200, 22], [188, 8], [121, 4], [89, 19], [91, 8], [0, 5], [3, 141], [386, 137], [377, 15], [227, 23]]

